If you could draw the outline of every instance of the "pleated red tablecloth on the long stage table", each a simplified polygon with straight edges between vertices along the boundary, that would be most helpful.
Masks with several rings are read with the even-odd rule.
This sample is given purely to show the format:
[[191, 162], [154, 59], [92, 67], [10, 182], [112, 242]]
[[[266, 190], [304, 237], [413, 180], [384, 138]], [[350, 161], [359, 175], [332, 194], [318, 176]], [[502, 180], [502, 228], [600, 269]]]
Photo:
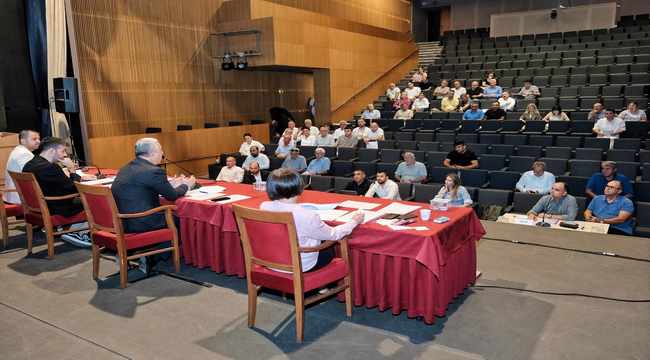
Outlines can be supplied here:
[[[240, 205], [257, 208], [267, 200], [265, 193], [254, 191], [251, 185], [219, 185], [228, 194], [251, 196]], [[312, 203], [344, 200], [360, 198], [316, 191], [305, 191], [300, 197], [301, 202]], [[244, 255], [232, 207], [187, 198], [176, 205], [185, 263], [243, 277]], [[432, 217], [438, 215], [434, 212]], [[394, 314], [406, 310], [408, 316], [422, 316], [427, 323], [443, 316], [454, 297], [474, 282], [476, 241], [485, 234], [471, 209], [454, 208], [444, 215], [450, 218], [445, 224], [413, 224], [425, 225], [427, 231], [393, 231], [375, 223], [355, 229], [349, 237], [354, 304], [377, 306], [381, 311], [391, 308]]]

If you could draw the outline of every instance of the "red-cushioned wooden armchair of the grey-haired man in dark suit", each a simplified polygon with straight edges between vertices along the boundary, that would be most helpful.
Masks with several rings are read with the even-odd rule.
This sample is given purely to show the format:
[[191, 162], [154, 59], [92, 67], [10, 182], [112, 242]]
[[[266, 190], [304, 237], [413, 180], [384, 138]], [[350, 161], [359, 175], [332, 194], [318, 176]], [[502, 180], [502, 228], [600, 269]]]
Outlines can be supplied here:
[[[171, 251], [174, 259], [176, 272], [180, 271], [181, 260], [178, 249], [178, 234], [172, 211], [174, 205], [165, 205], [153, 208], [144, 212], [134, 214], [120, 214], [117, 211], [117, 204], [111, 189], [106, 186], [83, 185], [76, 183], [81, 202], [86, 210], [90, 233], [93, 239], [93, 279], [99, 277], [99, 258], [103, 250], [114, 251], [120, 262], [120, 287], [124, 289], [127, 284], [128, 263], [130, 260], [139, 259], [143, 256], [150, 256]], [[147, 231], [142, 233], [124, 233], [122, 219], [134, 219], [149, 216], [157, 212], [165, 212], [167, 227], [163, 229]], [[170, 247], [144, 250], [133, 255], [128, 255], [129, 250], [136, 250], [145, 247], [152, 247], [156, 244], [171, 241]]]

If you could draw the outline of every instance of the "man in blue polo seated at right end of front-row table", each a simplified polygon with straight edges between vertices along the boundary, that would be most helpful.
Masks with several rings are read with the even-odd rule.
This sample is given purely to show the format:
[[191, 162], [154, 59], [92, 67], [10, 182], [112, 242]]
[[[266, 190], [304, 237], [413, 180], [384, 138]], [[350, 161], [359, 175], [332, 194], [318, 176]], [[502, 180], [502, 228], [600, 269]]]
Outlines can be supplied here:
[[612, 180], [605, 186], [605, 194], [598, 195], [585, 210], [585, 221], [609, 224], [608, 234], [634, 234], [634, 204], [621, 196], [620, 181]]

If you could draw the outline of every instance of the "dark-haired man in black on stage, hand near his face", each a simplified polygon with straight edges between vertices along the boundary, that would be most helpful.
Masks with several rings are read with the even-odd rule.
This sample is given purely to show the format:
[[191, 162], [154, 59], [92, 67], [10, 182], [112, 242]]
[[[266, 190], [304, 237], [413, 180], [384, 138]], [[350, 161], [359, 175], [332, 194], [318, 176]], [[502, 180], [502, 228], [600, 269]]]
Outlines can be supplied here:
[[[67, 169], [69, 176], [63, 172], [63, 168], [59, 164]], [[81, 180], [81, 177], [75, 173], [76, 170], [77, 167], [66, 153], [65, 141], [55, 137], [43, 139], [40, 144], [40, 153], [23, 166], [23, 172], [34, 174], [44, 196], [76, 194], [77, 188], [74, 186], [74, 182]], [[64, 217], [77, 215], [84, 210], [78, 197], [67, 200], [48, 200], [47, 207], [51, 215]], [[65, 234], [63, 239], [82, 246], [90, 245], [91, 242], [87, 232]]]

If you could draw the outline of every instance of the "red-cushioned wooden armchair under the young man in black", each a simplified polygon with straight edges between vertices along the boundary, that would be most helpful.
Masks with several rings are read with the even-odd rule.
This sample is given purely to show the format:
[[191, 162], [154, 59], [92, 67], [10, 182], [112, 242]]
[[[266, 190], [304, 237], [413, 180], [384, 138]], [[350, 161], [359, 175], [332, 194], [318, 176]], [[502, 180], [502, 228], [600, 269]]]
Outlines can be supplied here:
[[[44, 196], [41, 186], [36, 181], [32, 173], [12, 172], [9, 175], [16, 184], [16, 190], [20, 196], [23, 212], [25, 214], [25, 223], [27, 228], [27, 253], [32, 253], [32, 242], [34, 239], [34, 226], [42, 226], [45, 229], [47, 237], [47, 257], [54, 257], [54, 237], [86, 230], [76, 228], [70, 230], [70, 225], [86, 222], [86, 214], [81, 211], [70, 217], [61, 215], [51, 215], [46, 201], [70, 200], [79, 196], [79, 194], [70, 194], [63, 196]], [[63, 227], [62, 231], [54, 231], [55, 227]]]

